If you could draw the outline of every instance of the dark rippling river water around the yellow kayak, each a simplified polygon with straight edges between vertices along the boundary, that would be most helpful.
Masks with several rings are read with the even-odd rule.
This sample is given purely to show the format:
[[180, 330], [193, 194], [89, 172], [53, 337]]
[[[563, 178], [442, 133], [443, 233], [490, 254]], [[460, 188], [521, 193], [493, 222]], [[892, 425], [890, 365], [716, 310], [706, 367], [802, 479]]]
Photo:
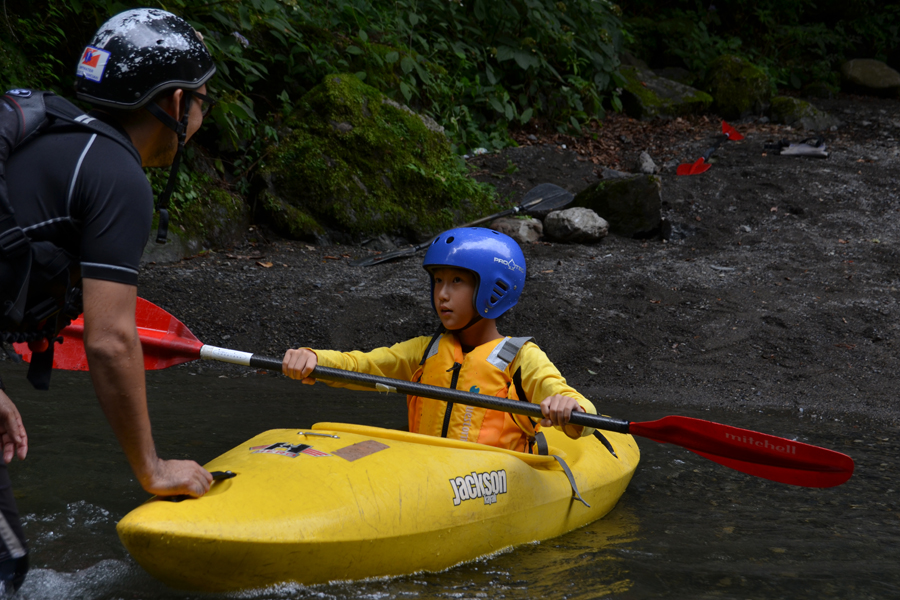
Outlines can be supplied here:
[[[659, 403], [622, 406], [612, 416], [685, 414], [798, 439], [849, 454], [856, 473], [837, 488], [797, 488], [639, 439], [641, 464], [618, 506], [557, 539], [436, 574], [231, 595], [172, 590], [143, 572], [116, 536], [116, 522], [147, 495], [88, 376], [56, 372], [47, 393], [26, 389], [23, 373], [4, 365], [30, 441], [28, 458], [10, 466], [32, 560], [19, 598], [900, 598], [900, 431], [814, 415], [676, 412]], [[181, 367], [148, 373], [148, 388], [159, 453], [201, 463], [267, 429], [406, 423], [401, 396], [277, 376]]]

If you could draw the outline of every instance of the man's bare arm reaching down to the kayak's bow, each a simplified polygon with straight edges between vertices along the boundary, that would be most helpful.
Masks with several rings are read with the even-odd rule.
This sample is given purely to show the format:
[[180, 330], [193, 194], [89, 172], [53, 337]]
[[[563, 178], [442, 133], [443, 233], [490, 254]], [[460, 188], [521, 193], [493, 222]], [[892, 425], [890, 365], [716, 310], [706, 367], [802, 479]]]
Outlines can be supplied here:
[[202, 496], [212, 476], [187, 460], [156, 455], [147, 412], [144, 355], [134, 321], [137, 288], [84, 280], [84, 347], [94, 390], [141, 486], [151, 494]]

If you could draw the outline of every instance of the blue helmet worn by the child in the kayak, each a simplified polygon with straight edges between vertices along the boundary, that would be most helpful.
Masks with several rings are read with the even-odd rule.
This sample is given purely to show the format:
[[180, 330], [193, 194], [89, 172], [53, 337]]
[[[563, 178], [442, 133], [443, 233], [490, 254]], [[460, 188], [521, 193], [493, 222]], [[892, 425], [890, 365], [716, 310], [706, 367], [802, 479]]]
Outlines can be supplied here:
[[[460, 227], [438, 235], [431, 242], [422, 266], [429, 274], [438, 267], [455, 267], [477, 276], [475, 314], [496, 319], [519, 301], [525, 286], [525, 255], [514, 239], [482, 227]], [[434, 276], [431, 278], [434, 306]]]

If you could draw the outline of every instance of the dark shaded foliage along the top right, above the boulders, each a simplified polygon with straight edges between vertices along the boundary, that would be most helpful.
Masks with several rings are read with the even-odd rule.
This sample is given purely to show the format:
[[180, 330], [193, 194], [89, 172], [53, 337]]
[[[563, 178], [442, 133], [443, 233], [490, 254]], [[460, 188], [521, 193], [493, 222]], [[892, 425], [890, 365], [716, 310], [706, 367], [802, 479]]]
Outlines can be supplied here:
[[778, 87], [838, 83], [849, 58], [886, 60], [900, 48], [900, 5], [880, 0], [625, 0], [628, 46], [651, 66], [701, 76], [712, 59], [738, 54]]

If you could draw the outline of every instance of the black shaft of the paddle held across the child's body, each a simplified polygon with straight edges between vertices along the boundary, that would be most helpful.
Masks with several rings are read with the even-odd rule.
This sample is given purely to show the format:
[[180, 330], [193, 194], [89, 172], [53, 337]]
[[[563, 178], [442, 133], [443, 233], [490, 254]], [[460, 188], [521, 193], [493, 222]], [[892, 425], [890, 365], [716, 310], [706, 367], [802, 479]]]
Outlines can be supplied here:
[[[282, 372], [281, 360], [270, 358], [268, 356], [260, 356], [258, 354], [254, 354], [250, 358], [250, 366], [259, 369], [278, 371], [279, 373]], [[531, 402], [521, 402], [509, 400], [507, 398], [497, 398], [496, 396], [473, 394], [462, 390], [439, 388], [433, 385], [425, 385], [424, 383], [403, 381], [402, 379], [391, 379], [389, 377], [379, 377], [377, 375], [369, 375], [368, 373], [355, 373], [353, 371], [343, 371], [341, 369], [332, 369], [329, 367], [316, 367], [310, 374], [310, 377], [314, 379], [355, 384], [382, 392], [422, 396], [423, 398], [455, 402], [457, 404], [465, 404], [466, 406], [477, 406], [478, 408], [527, 415], [535, 419], [543, 418], [540, 406], [532, 404]], [[618, 433], [628, 433], [629, 425], [628, 421], [612, 419], [600, 415], [591, 415], [583, 412], [573, 412], [572, 416], [569, 418], [569, 422], [573, 425], [583, 425], [585, 427], [593, 427], [594, 429], [615, 431]]]

